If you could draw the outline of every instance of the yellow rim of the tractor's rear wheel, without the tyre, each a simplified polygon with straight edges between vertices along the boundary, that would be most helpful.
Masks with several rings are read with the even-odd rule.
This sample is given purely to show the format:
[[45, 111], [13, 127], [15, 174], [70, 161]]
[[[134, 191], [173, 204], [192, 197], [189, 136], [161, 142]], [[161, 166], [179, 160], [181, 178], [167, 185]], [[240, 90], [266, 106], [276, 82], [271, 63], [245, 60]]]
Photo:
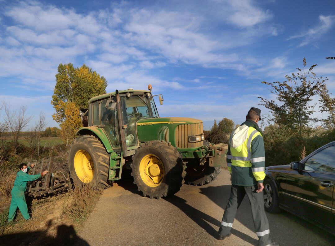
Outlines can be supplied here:
[[93, 179], [94, 164], [90, 154], [85, 150], [78, 150], [74, 156], [74, 170], [78, 178], [89, 183]]

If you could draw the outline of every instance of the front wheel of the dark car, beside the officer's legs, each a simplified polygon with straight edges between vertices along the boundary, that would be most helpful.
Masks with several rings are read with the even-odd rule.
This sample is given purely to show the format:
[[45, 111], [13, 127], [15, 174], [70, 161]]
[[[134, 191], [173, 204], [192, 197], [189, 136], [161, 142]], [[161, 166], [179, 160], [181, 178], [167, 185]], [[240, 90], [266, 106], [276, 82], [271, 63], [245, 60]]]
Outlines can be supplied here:
[[268, 213], [279, 213], [281, 210], [279, 208], [279, 198], [278, 192], [274, 183], [271, 179], [264, 180], [264, 207], [265, 211]]

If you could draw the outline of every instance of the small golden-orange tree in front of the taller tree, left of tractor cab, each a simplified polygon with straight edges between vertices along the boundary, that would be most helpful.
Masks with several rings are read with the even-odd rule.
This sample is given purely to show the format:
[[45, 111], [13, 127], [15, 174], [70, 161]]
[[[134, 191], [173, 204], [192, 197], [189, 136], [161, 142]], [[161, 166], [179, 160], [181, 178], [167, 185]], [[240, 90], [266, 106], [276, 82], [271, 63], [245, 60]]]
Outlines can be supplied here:
[[65, 120], [60, 124], [60, 136], [64, 143], [72, 143], [72, 140], [75, 138], [76, 131], [79, 127], [82, 127], [82, 121], [79, 113], [79, 108], [74, 102], [64, 103], [64, 115]]

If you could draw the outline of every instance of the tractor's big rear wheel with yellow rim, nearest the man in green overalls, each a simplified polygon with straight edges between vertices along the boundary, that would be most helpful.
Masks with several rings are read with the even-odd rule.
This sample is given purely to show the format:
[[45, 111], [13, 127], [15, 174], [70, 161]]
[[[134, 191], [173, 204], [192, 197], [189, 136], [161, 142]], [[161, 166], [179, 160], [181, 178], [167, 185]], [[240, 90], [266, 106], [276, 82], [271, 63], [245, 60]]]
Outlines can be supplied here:
[[108, 186], [109, 154], [104, 145], [92, 135], [73, 140], [68, 151], [69, 169], [76, 188], [91, 184], [97, 189]]

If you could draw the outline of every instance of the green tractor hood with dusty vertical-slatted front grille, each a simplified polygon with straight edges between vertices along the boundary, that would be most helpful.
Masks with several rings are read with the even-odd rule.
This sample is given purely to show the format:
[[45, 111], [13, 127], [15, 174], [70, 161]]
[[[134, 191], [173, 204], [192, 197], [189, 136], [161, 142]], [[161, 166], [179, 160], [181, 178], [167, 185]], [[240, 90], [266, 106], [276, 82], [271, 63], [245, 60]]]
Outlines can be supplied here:
[[184, 117], [150, 118], [137, 121], [137, 136], [140, 142], [152, 140], [171, 142], [179, 149], [195, 149], [203, 142], [190, 143], [189, 136], [203, 133], [203, 122]]

